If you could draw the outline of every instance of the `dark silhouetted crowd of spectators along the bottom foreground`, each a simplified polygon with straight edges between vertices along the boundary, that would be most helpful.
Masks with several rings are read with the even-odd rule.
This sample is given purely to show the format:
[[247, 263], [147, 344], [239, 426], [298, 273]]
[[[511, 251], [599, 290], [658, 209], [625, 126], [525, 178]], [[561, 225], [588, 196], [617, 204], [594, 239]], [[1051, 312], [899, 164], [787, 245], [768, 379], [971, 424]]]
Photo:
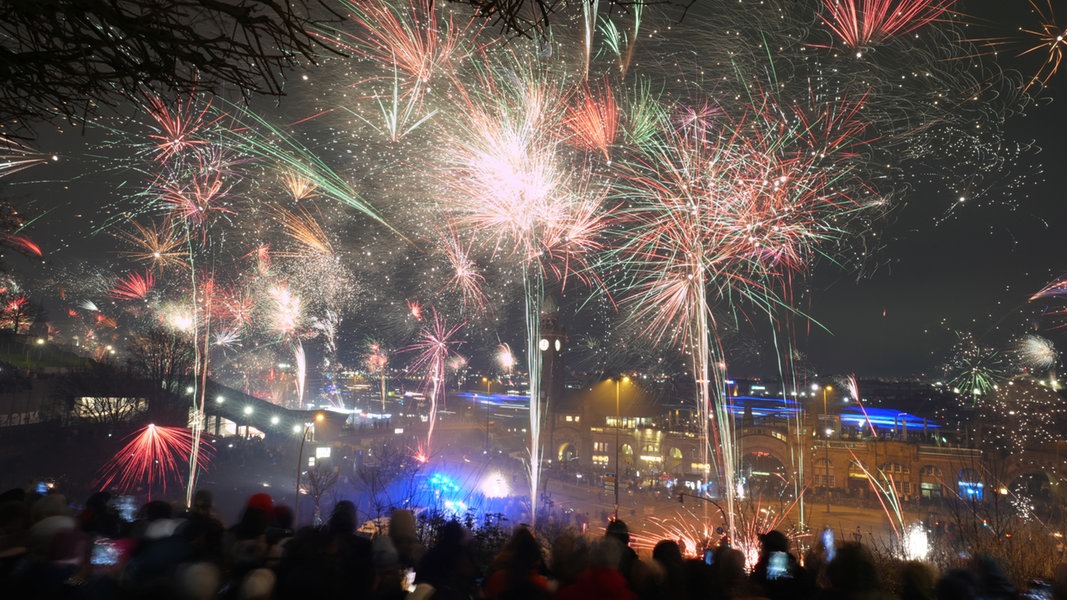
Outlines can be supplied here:
[[429, 543], [407, 510], [395, 510], [387, 533], [373, 538], [357, 525], [349, 501], [321, 525], [294, 531], [292, 510], [265, 493], [226, 526], [206, 490], [188, 510], [153, 501], [132, 521], [105, 492], [75, 511], [60, 493], [10, 490], [0, 494], [0, 598], [1067, 600], [1053, 583], [1024, 594], [988, 556], [943, 572], [907, 563], [889, 582], [858, 542], [819, 542], [801, 560], [777, 531], [760, 536], [759, 558], [746, 569], [729, 544], [687, 558], [665, 539], [638, 556], [621, 520], [603, 535], [569, 533], [551, 543], [521, 526], [488, 560], [457, 521], [436, 527]]

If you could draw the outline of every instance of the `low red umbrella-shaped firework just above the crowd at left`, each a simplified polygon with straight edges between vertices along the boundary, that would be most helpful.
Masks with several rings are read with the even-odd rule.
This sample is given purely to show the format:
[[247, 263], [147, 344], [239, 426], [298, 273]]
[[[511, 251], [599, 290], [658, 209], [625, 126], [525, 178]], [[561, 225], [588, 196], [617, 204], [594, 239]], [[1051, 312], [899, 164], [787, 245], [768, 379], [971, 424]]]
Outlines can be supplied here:
[[121, 491], [128, 492], [145, 486], [148, 499], [152, 500], [154, 489], [160, 489], [165, 494], [169, 483], [180, 481], [185, 461], [194, 454], [194, 443], [203, 446], [200, 453], [195, 453], [200, 469], [207, 468], [213, 451], [210, 444], [195, 441], [189, 429], [181, 427], [150, 424], [130, 438], [100, 468], [97, 480], [100, 489], [114, 485]]

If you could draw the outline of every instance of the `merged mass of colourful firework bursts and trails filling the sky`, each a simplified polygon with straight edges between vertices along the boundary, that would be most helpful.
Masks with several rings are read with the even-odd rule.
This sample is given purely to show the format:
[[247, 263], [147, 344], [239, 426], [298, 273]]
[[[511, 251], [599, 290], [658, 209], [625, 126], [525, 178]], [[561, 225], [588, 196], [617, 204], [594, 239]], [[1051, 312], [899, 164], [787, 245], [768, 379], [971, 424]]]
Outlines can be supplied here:
[[[1019, 75], [986, 51], [1002, 38], [964, 34], [972, 19], [954, 0], [710, 0], [681, 22], [670, 6], [590, 1], [528, 38], [462, 3], [343, 1], [345, 18], [314, 32], [339, 53], [294, 74], [278, 107], [146, 95], [140, 122], [91, 124], [109, 136], [94, 159], [123, 181], [94, 225], [123, 243], [121, 265], [63, 301], [85, 346], [160, 322], [191, 338], [190, 490], [209, 373], [240, 364], [246, 392], [306, 408], [349, 333], [373, 340], [355, 361], [383, 413], [388, 369], [425, 374], [426, 461], [455, 348], [490, 364], [507, 340], [526, 366], [535, 521], [555, 458], [543, 302], [610, 306], [612, 330], [686, 364], [699, 464], [732, 533], [723, 332], [769, 321], [792, 347], [811, 325], [815, 266], [878, 262], [883, 218], [915, 189], [952, 198], [930, 201], [942, 216], [1001, 201], [1025, 154], [1005, 151], [1004, 123], [1034, 105], [1064, 48], [1051, 3], [1031, 2], [1042, 22], [1022, 30], [1021, 53], [1048, 59]], [[2, 177], [48, 161], [0, 138]], [[4, 242], [41, 253], [20, 239]], [[1051, 297], [1062, 285], [1035, 295]], [[1056, 360], [1037, 337], [1018, 351], [1034, 368]], [[792, 358], [774, 360], [794, 381]], [[977, 396], [999, 366], [961, 335], [946, 372]], [[283, 368], [293, 381], [273, 385]], [[108, 480], [146, 473], [131, 469], [111, 464]]]

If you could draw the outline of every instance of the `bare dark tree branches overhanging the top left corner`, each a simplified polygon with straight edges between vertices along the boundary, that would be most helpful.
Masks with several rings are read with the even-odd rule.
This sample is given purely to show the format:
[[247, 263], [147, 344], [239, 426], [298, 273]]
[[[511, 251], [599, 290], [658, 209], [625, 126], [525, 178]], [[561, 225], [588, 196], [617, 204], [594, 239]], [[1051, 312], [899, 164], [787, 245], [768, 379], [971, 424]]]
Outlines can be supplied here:
[[323, 48], [324, 0], [0, 0], [0, 122], [80, 117], [145, 91], [282, 95]]

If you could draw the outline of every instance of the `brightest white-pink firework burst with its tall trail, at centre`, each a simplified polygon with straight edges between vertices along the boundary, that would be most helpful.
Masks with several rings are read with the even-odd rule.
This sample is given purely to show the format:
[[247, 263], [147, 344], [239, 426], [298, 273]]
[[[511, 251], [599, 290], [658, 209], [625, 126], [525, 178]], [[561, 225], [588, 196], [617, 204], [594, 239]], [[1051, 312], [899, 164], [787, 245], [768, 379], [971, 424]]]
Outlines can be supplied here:
[[452, 151], [436, 171], [449, 199], [446, 222], [477, 241], [490, 260], [514, 265], [523, 285], [534, 520], [547, 410], [538, 347], [546, 281], [599, 281], [590, 256], [610, 216], [603, 188], [578, 179], [562, 156], [558, 131], [567, 96], [567, 85], [539, 67], [482, 70], [463, 95], [464, 121], [455, 124], [447, 142]]

